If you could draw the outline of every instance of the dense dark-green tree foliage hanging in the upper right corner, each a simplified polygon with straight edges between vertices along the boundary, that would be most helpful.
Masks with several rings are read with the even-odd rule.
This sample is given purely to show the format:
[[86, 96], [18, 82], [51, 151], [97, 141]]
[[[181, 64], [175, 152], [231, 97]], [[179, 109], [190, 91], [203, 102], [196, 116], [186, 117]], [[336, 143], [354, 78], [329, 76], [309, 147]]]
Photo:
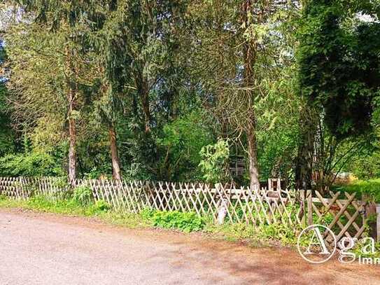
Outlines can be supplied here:
[[300, 92], [338, 139], [371, 129], [380, 90], [380, 24], [358, 18], [376, 4], [351, 2], [308, 1], [298, 31]]

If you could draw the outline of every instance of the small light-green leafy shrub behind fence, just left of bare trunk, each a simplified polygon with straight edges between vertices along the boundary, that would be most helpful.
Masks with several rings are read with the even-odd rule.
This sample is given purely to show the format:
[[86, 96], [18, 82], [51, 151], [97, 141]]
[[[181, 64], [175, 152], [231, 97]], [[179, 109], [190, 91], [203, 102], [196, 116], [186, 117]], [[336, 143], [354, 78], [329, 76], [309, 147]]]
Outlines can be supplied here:
[[202, 160], [199, 162], [199, 167], [207, 182], [223, 183], [230, 178], [228, 165], [230, 148], [227, 141], [219, 139], [216, 144], [204, 146], [200, 155]]

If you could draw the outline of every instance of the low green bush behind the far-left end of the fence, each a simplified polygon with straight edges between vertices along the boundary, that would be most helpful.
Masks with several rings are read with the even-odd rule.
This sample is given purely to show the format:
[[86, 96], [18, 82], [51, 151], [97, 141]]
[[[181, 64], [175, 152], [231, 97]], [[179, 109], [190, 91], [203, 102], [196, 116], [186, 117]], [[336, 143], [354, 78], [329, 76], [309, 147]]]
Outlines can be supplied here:
[[0, 158], [1, 176], [63, 176], [57, 160], [47, 153], [9, 154]]

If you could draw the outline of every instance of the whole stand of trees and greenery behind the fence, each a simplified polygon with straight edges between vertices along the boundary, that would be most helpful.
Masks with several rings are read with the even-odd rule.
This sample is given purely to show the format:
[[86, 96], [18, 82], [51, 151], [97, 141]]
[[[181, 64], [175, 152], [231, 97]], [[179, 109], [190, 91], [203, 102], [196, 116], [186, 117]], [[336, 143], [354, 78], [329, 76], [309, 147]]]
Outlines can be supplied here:
[[0, 176], [380, 177], [380, 1], [1, 4]]

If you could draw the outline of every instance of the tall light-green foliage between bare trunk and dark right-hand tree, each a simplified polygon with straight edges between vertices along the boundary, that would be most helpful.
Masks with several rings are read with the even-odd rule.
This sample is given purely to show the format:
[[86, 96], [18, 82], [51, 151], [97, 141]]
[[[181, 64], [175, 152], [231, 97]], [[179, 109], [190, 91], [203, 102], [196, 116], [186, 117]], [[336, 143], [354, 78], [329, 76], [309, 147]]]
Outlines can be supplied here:
[[283, 67], [276, 81], [265, 81], [267, 96], [256, 104], [260, 181], [282, 177], [294, 170], [300, 132], [300, 97], [296, 85], [297, 64]]

